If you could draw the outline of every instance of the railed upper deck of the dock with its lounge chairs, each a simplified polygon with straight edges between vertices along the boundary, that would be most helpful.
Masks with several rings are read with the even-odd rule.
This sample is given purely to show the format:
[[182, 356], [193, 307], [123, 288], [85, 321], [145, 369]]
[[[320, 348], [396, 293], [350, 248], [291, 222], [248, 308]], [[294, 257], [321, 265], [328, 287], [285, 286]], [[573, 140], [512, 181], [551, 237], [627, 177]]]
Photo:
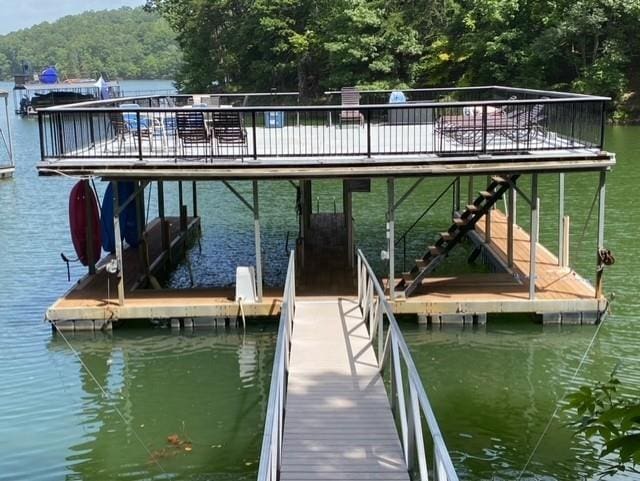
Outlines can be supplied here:
[[[146, 96], [44, 109], [41, 175], [313, 178], [602, 170], [606, 97], [471, 87]], [[240, 100], [240, 102], [238, 101]], [[358, 102], [358, 100], [356, 100]]]

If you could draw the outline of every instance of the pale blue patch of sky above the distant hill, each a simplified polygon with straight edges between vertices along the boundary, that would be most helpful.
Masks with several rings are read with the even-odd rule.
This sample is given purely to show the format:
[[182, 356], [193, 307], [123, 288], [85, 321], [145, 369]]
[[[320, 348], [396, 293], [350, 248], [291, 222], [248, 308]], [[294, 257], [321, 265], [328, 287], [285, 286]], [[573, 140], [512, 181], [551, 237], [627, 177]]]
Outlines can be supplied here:
[[0, 35], [87, 10], [143, 4], [144, 0], [0, 0]]

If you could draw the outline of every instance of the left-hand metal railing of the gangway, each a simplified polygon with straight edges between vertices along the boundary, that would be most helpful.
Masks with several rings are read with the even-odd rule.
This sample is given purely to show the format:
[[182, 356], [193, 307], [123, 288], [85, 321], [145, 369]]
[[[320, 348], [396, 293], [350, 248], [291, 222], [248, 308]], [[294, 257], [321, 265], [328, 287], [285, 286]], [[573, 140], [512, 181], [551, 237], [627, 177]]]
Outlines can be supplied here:
[[295, 253], [291, 251], [289, 255], [289, 266], [287, 267], [287, 279], [284, 284], [282, 305], [280, 306], [280, 327], [278, 328], [276, 353], [273, 357], [269, 402], [267, 404], [267, 416], [264, 422], [264, 434], [262, 436], [260, 467], [258, 468], [258, 481], [276, 481], [280, 471], [291, 333], [293, 331], [293, 316], [296, 307], [295, 272]]

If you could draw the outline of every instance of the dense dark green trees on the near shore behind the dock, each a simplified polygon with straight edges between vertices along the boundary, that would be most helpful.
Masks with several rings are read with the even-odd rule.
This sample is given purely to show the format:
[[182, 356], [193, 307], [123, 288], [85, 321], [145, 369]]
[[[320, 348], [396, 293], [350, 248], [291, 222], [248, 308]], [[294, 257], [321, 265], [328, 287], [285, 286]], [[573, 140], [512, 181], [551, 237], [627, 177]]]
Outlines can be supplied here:
[[[147, 0], [191, 91], [507, 84], [634, 109], [640, 0]], [[620, 112], [623, 112], [621, 109]], [[620, 114], [624, 115], [624, 113]]]

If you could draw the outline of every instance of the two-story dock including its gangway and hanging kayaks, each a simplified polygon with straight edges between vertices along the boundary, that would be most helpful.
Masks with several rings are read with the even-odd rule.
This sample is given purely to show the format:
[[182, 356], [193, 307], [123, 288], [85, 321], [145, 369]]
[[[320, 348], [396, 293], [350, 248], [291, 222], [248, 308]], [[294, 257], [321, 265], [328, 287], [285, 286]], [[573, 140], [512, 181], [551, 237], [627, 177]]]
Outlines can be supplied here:
[[[323, 106], [274, 105], [271, 94], [264, 103], [244, 96], [243, 105], [233, 96], [176, 95], [40, 111], [38, 171], [81, 179], [71, 227], [88, 268], [46, 317], [57, 329], [138, 318], [186, 329], [279, 315], [260, 481], [457, 481], [395, 315], [463, 324], [495, 313], [555, 323], [602, 318], [603, 272], [613, 261], [604, 245], [606, 174], [615, 164], [603, 150], [608, 99], [495, 86], [412, 90], [393, 104], [390, 92], [329, 95]], [[595, 286], [570, 265], [564, 190], [575, 172], [594, 173]], [[557, 178], [556, 253], [539, 243], [542, 176]], [[421, 184], [443, 177], [450, 182], [443, 190], [438, 182], [431, 205], [411, 202]], [[110, 182], [101, 215], [88, 178]], [[341, 182], [341, 212], [314, 212], [319, 179]], [[387, 193], [380, 237], [388, 269], [378, 273], [358, 248], [353, 221], [353, 196], [373, 179]], [[408, 179], [406, 190], [398, 179]], [[284, 289], [263, 285], [261, 213], [269, 206], [260, 191], [277, 180], [295, 187], [299, 224]], [[177, 183], [176, 217], [165, 215], [169, 182]], [[162, 288], [159, 273], [199, 235], [198, 186], [208, 182], [228, 188], [253, 219], [255, 263], [238, 266], [235, 289]], [[158, 217], [144, 220], [152, 185]], [[396, 215], [422, 212], [418, 222], [449, 194], [450, 219], [405, 265]], [[522, 209], [528, 231], [516, 221]], [[490, 272], [443, 275], [468, 242]]]

